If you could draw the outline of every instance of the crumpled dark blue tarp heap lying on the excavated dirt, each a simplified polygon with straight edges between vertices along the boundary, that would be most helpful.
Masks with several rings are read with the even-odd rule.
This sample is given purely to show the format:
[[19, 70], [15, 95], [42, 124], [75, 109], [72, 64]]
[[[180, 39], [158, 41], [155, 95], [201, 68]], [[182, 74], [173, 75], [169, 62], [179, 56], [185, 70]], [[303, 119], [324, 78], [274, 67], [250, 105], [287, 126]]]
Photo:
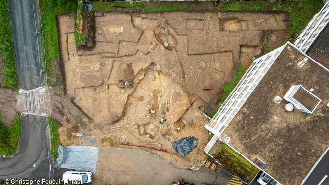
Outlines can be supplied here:
[[184, 137], [171, 143], [174, 150], [183, 156], [188, 155], [193, 149], [197, 147], [198, 144], [199, 141], [193, 136]]

